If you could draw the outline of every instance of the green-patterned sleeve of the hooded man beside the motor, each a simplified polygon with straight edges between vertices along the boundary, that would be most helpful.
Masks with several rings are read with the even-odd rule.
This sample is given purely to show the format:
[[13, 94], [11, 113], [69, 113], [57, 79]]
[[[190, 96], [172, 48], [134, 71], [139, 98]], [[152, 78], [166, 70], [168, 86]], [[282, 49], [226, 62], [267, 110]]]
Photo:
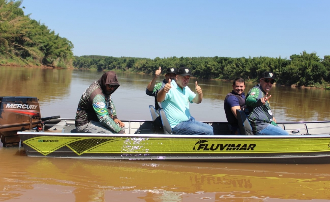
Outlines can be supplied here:
[[[96, 95], [93, 99], [93, 109], [100, 123], [107, 127], [111, 132], [118, 133], [122, 130], [108, 113], [105, 98], [102, 95]], [[113, 115], [114, 116], [114, 115]]]

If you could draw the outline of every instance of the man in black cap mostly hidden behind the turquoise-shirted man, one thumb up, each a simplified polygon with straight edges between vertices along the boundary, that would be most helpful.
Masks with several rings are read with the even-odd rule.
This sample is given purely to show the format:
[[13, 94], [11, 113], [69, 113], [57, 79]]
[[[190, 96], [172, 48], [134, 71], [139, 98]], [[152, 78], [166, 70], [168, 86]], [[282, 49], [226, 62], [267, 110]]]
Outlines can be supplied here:
[[159, 106], [158, 102], [157, 102], [157, 93], [160, 89], [162, 89], [165, 84], [168, 82], [169, 79], [171, 80], [175, 80], [175, 76], [177, 75], [177, 69], [174, 67], [169, 67], [167, 68], [166, 74], [165, 74], [165, 79], [163, 80], [163, 82], [156, 84], [156, 81], [159, 77], [159, 75], [162, 73], [161, 71], [161, 67], [159, 67], [159, 69], [156, 70], [155, 72], [155, 76], [153, 77], [153, 79], [149, 82], [147, 88], [146, 88], [146, 94], [149, 96], [153, 96], [155, 97], [155, 109], [158, 110], [161, 106]]

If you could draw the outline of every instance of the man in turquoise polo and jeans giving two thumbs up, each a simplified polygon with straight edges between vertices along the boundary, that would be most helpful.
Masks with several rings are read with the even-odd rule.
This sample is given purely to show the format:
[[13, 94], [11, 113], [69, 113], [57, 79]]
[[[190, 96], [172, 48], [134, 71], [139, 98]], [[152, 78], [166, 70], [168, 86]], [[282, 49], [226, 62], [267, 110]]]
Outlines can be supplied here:
[[162, 103], [173, 134], [181, 135], [213, 135], [213, 127], [209, 124], [196, 121], [190, 116], [189, 102], [201, 103], [203, 92], [195, 82], [195, 91], [187, 86], [191, 72], [187, 67], [178, 70], [176, 79], [168, 83], [158, 92], [157, 101]]

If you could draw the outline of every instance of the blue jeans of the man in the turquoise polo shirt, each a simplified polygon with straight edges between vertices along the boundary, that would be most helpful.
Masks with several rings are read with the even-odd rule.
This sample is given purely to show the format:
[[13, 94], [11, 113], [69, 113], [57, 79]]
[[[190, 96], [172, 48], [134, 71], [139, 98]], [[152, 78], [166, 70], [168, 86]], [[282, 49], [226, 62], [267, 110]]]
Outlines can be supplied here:
[[191, 117], [172, 128], [172, 132], [178, 135], [213, 135], [213, 127]]

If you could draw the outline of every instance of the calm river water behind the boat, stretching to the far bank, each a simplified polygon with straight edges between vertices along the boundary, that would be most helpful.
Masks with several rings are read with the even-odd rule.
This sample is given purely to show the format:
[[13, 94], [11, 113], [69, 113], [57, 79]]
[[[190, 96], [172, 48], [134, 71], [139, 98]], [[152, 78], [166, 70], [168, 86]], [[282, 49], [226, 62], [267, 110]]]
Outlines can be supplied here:
[[[74, 118], [82, 92], [102, 72], [90, 70], [59, 70], [0, 66], [1, 96], [36, 96], [43, 117], [60, 115]], [[149, 105], [153, 98], [145, 94], [152, 75], [117, 73], [120, 87], [113, 94], [118, 118], [122, 120], [151, 120]], [[159, 82], [163, 78], [159, 79]], [[192, 79], [203, 90], [201, 104], [191, 104], [191, 114], [201, 121], [226, 121], [223, 100], [232, 90], [231, 82]], [[248, 90], [254, 84], [246, 84]], [[278, 121], [329, 120], [330, 91], [314, 88], [275, 86], [270, 91], [270, 104]]]

